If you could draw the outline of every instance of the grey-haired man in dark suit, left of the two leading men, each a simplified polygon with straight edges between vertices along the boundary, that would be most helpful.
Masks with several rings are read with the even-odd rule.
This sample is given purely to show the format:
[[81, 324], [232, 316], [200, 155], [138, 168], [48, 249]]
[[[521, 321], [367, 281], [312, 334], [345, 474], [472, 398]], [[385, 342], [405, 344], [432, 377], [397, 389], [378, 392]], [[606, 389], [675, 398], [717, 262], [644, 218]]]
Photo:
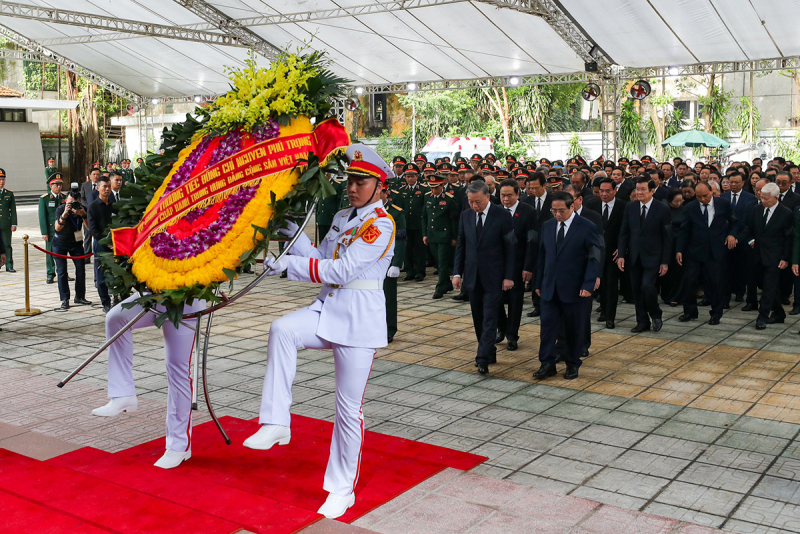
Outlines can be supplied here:
[[484, 182], [467, 187], [471, 209], [461, 213], [453, 269], [453, 287], [461, 289], [463, 283], [469, 292], [478, 337], [475, 365], [484, 375], [489, 364], [497, 361], [494, 341], [503, 291], [514, 287], [514, 224], [511, 215], [493, 204], [490, 196]]

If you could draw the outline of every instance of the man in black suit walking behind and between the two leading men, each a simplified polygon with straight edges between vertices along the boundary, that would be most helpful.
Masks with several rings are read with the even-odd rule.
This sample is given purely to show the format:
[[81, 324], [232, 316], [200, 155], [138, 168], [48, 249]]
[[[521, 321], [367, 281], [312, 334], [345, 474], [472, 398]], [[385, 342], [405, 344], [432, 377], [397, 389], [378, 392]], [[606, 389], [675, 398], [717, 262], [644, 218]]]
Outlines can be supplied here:
[[516, 238], [516, 252], [514, 254], [514, 287], [506, 291], [504, 302], [508, 304], [508, 316], [505, 305], [501, 302], [499, 318], [497, 321], [497, 337], [495, 343], [500, 343], [503, 338], [508, 340], [508, 350], [517, 350], [519, 343], [519, 323], [522, 320], [522, 305], [525, 301], [525, 284], [533, 278], [536, 269], [535, 246], [535, 217], [533, 208], [519, 200], [519, 184], [516, 180], [503, 180], [500, 182], [500, 201], [511, 215], [514, 224], [514, 237]]

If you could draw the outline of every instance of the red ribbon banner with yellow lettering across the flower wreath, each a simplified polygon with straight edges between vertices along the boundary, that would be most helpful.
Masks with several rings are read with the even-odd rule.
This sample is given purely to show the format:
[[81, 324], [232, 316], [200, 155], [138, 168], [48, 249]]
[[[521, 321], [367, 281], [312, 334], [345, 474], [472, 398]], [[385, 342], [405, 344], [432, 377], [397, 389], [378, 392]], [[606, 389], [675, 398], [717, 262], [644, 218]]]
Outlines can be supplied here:
[[111, 230], [114, 254], [132, 256], [154, 233], [181, 218], [195, 206], [264, 176], [287, 171], [313, 152], [326, 158], [350, 144], [336, 119], [321, 122], [312, 133], [278, 137], [254, 144], [197, 173], [148, 209], [134, 228]]

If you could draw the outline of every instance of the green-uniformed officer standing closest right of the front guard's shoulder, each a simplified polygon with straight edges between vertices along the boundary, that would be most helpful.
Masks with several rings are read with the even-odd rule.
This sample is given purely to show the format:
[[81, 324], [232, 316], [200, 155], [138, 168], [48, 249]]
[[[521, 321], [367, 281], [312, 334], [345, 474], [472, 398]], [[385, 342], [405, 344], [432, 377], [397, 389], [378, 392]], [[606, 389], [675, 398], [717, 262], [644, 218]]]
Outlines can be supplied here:
[[422, 228], [425, 226], [425, 193], [428, 186], [419, 183], [419, 169], [408, 163], [403, 169], [406, 185], [400, 189], [406, 212], [406, 276], [403, 280], [425, 280], [425, 243]]

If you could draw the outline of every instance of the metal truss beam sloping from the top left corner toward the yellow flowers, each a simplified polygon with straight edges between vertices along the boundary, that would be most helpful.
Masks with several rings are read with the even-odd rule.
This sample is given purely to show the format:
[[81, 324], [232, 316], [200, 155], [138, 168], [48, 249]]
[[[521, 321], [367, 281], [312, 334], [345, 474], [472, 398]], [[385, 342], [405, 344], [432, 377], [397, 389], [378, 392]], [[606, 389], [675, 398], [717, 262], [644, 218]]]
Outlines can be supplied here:
[[164, 24], [151, 24], [136, 20], [126, 20], [118, 17], [94, 15], [80, 11], [67, 11], [15, 2], [0, 1], [0, 16], [13, 17], [51, 24], [67, 24], [81, 28], [94, 28], [96, 30], [113, 31], [122, 34], [144, 35], [147, 37], [160, 37], [165, 39], [179, 39], [220, 46], [248, 46], [241, 44], [238, 37], [223, 33], [213, 33], [194, 29], [185, 29], [179, 26]]

